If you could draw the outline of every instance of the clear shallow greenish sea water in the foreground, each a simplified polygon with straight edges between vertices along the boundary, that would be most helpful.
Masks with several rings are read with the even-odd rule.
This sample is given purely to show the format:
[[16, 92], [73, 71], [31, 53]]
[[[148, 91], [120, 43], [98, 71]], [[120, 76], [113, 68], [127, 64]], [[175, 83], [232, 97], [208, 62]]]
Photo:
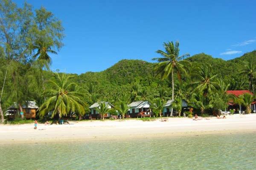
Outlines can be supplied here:
[[1, 170], [255, 170], [256, 133], [0, 145]]

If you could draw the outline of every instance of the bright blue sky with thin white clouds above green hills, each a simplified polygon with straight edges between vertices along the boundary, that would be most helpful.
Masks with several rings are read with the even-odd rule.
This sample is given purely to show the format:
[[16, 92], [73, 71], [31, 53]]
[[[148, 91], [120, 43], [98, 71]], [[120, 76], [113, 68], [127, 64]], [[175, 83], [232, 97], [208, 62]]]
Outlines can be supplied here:
[[[23, 0], [14, 0], [18, 6]], [[163, 42], [180, 54], [232, 59], [256, 49], [254, 0], [27, 0], [44, 6], [65, 28], [52, 70], [102, 71], [121, 59], [152, 62]]]

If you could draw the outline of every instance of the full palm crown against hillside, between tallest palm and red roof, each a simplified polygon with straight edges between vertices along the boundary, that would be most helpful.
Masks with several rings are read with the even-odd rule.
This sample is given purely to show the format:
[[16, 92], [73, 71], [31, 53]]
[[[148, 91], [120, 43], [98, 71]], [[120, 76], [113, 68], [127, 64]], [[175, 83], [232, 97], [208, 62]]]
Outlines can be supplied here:
[[198, 77], [199, 81], [193, 82], [191, 85], [197, 85], [194, 91], [199, 91], [203, 93], [205, 97], [212, 95], [213, 91], [219, 88], [218, 82], [215, 82], [214, 79], [218, 74], [211, 74], [211, 66], [203, 65], [199, 69], [195, 76]]

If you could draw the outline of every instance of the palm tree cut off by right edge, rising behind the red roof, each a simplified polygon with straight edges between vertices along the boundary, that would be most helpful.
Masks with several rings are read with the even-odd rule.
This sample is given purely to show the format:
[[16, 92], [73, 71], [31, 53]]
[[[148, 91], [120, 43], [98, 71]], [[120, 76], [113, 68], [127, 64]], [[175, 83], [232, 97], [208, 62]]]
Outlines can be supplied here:
[[253, 80], [256, 76], [256, 66], [253, 64], [253, 56], [250, 57], [250, 62], [244, 62], [246, 65], [246, 68], [244, 71], [241, 72], [241, 74], [247, 75], [249, 78], [249, 90], [253, 91], [254, 94], [254, 87], [253, 87]]

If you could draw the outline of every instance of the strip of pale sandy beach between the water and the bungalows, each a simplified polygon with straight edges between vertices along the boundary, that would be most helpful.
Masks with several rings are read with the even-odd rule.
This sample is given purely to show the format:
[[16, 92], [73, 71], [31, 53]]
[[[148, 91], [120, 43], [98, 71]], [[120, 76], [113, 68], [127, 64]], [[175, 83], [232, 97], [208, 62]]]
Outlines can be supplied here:
[[127, 119], [124, 121], [70, 122], [69, 125], [38, 124], [0, 125], [0, 144], [38, 142], [77, 142], [122, 140], [137, 138], [163, 138], [220, 133], [256, 132], [256, 114], [230, 115], [227, 119], [169, 118], [152, 122]]

